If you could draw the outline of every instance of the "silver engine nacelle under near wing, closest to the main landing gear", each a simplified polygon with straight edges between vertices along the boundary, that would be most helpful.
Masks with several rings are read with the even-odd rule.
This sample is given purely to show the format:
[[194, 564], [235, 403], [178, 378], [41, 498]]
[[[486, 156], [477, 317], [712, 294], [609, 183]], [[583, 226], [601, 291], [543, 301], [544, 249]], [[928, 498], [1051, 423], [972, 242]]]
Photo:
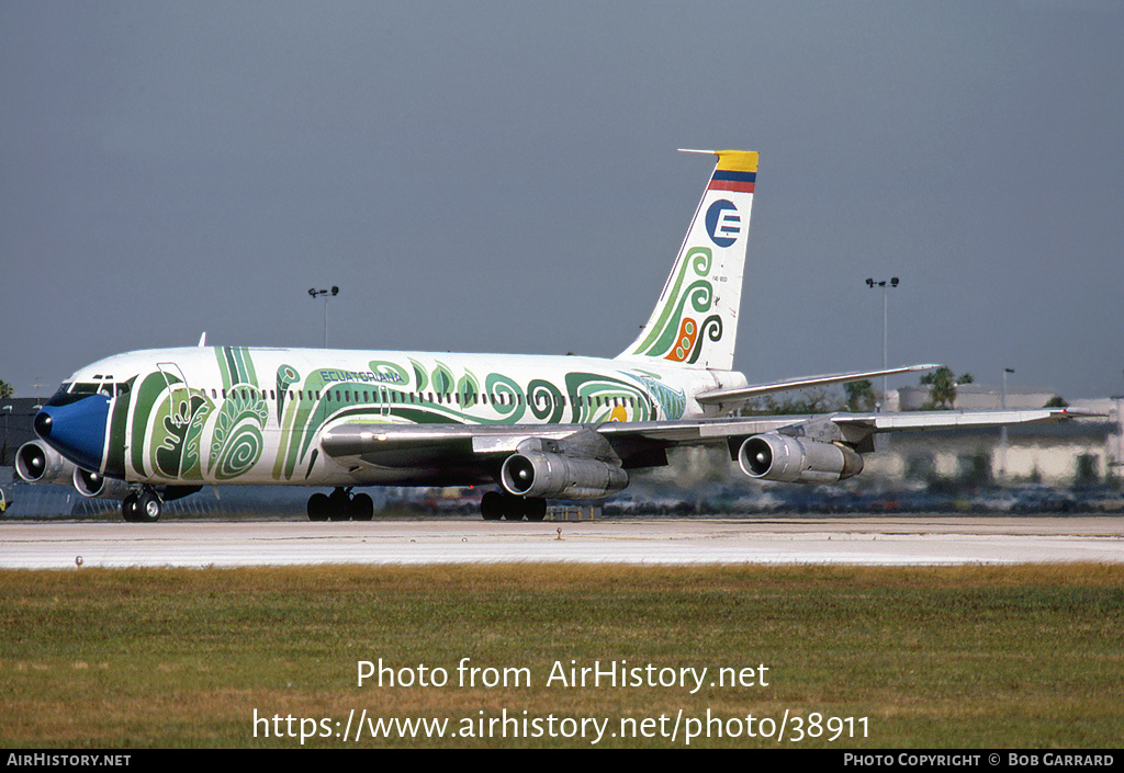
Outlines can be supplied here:
[[600, 499], [628, 485], [628, 473], [598, 460], [525, 451], [507, 457], [500, 483], [518, 497]]

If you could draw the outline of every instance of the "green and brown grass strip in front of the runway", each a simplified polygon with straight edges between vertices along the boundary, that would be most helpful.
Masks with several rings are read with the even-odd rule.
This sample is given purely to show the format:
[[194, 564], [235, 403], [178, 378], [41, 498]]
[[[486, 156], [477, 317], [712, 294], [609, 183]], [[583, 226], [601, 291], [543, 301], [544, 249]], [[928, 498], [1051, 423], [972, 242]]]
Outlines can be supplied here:
[[[1115, 747], [1124, 735], [1124, 567], [321, 566], [0, 572], [0, 746], [299, 746], [259, 717], [451, 721], [668, 717], [779, 725], [867, 717], [867, 737], [692, 746]], [[525, 682], [457, 685], [461, 658]], [[356, 684], [359, 661], [446, 686]], [[679, 686], [547, 685], [565, 667], [707, 666]], [[768, 686], [710, 686], [722, 666]], [[524, 713], [526, 712], [526, 713]], [[337, 726], [335, 722], [341, 725]], [[543, 725], [542, 727], [546, 727]], [[299, 733], [282, 724], [283, 730]], [[316, 725], [319, 734], [324, 726]], [[310, 726], [306, 726], [309, 730]], [[767, 726], [768, 729], [768, 726]], [[682, 746], [606, 737], [602, 746]], [[861, 736], [861, 727], [859, 728]], [[365, 746], [589, 739], [365, 738]]]

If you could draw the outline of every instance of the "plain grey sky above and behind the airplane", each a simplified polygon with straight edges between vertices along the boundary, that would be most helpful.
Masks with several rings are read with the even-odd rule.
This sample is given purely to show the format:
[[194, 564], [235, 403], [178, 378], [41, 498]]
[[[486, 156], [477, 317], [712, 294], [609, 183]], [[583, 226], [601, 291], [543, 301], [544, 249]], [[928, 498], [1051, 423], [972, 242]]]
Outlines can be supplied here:
[[[0, 379], [613, 356], [761, 153], [736, 365], [1124, 389], [1124, 3], [0, 0]], [[898, 385], [916, 383], [900, 378]], [[891, 383], [891, 385], [895, 385]]]

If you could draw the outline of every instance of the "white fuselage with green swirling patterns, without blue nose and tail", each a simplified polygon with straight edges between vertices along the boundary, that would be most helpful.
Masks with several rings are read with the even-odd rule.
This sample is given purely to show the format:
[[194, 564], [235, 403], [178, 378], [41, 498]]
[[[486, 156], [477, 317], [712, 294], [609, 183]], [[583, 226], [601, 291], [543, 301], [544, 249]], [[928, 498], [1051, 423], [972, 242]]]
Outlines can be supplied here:
[[[654, 365], [654, 366], [653, 366]], [[166, 484], [355, 485], [441, 480], [348, 469], [319, 440], [342, 425], [600, 425], [713, 415], [703, 391], [729, 371], [651, 360], [343, 349], [191, 347], [132, 352], [63, 389], [109, 395], [100, 472]], [[456, 478], [455, 465], [450, 472]]]

